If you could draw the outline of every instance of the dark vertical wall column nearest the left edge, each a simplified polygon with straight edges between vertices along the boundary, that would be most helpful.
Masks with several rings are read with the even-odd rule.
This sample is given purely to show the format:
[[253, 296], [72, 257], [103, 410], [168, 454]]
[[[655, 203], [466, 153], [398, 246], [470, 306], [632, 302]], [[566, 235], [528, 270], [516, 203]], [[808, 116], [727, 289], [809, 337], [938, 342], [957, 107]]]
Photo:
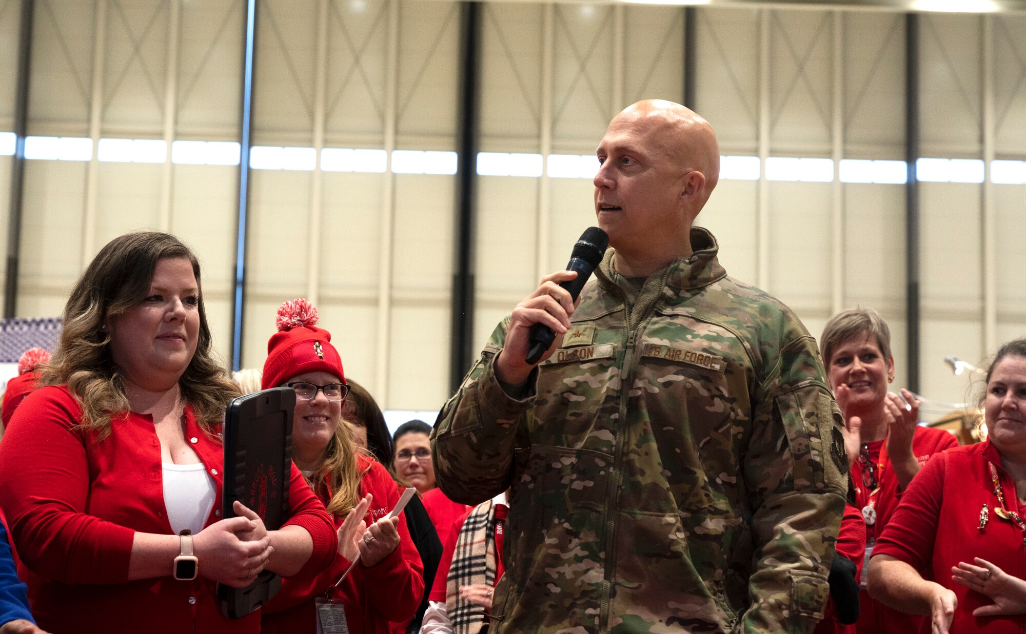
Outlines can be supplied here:
[[17, 87], [14, 93], [14, 156], [10, 165], [10, 215], [7, 217], [7, 268], [4, 271], [3, 316], [17, 309], [17, 270], [22, 251], [22, 199], [25, 191], [25, 136], [29, 130], [29, 71], [32, 56], [34, 0], [22, 0], [17, 32]]

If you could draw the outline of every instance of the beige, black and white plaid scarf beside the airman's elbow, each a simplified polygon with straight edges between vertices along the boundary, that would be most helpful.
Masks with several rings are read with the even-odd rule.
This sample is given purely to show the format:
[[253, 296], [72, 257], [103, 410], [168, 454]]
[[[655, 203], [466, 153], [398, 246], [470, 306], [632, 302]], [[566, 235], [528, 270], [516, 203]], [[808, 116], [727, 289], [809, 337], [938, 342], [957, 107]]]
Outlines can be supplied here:
[[477, 505], [460, 529], [445, 583], [445, 609], [452, 634], [478, 634], [487, 610], [460, 597], [460, 588], [496, 583], [496, 511], [491, 501]]

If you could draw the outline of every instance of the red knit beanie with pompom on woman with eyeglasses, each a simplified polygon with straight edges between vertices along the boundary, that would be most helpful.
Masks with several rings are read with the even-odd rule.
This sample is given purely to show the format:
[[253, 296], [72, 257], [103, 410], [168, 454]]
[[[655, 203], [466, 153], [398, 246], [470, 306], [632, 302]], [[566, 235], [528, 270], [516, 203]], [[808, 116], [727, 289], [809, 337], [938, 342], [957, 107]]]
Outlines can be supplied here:
[[290, 300], [278, 309], [278, 331], [267, 343], [263, 389], [276, 388], [305, 372], [323, 370], [346, 383], [342, 358], [331, 345], [331, 333], [318, 328], [317, 309], [304, 299]]

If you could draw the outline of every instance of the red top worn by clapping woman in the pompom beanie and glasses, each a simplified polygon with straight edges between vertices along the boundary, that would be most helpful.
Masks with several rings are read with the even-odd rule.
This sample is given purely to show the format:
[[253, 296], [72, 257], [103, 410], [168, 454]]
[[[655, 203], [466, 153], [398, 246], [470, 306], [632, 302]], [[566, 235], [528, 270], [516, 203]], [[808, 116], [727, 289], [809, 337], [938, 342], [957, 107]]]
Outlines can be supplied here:
[[[367, 524], [388, 515], [399, 502], [399, 485], [377, 461], [358, 457], [357, 468], [363, 472], [360, 494], [373, 496], [364, 521]], [[307, 487], [309, 490], [309, 486]], [[318, 494], [327, 504], [330, 492], [319, 487]], [[342, 526], [345, 518], [336, 518]], [[370, 567], [356, 565], [349, 577], [334, 588], [332, 596], [346, 608], [346, 623], [352, 634], [389, 634], [389, 622], [408, 622], [424, 597], [424, 565], [409, 537], [406, 517], [399, 514], [399, 546]], [[317, 576], [295, 576], [281, 584], [278, 595], [262, 608], [264, 634], [314, 634], [317, 630], [314, 599], [324, 596], [351, 562], [336, 554], [331, 565]]]

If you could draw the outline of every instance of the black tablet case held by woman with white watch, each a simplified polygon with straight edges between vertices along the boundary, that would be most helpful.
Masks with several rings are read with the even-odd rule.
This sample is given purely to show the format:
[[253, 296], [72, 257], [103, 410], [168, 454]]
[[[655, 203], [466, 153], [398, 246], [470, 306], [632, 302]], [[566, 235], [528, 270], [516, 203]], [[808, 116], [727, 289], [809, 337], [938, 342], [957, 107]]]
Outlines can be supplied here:
[[[288, 517], [288, 485], [292, 468], [292, 411], [295, 392], [272, 388], [236, 398], [225, 412], [225, 490], [222, 516], [235, 517], [238, 500], [277, 530]], [[281, 578], [261, 572], [245, 588], [219, 585], [222, 611], [241, 619], [270, 600]]]

